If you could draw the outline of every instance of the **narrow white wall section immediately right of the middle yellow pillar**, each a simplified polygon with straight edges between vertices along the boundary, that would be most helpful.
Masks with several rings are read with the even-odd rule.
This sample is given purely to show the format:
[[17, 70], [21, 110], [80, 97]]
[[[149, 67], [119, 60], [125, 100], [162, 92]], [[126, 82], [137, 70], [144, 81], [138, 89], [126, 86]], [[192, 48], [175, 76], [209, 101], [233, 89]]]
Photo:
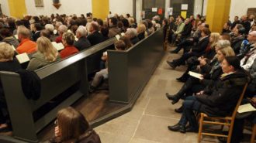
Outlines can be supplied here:
[[133, 15], [133, 0], [109, 0], [109, 11], [112, 14]]

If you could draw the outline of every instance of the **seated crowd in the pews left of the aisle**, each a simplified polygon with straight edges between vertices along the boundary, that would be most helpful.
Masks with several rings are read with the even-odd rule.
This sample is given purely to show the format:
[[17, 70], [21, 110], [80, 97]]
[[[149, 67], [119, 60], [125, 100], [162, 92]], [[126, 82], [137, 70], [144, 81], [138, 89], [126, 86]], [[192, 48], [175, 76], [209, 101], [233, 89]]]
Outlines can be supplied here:
[[[140, 40], [161, 28], [159, 17], [141, 23], [129, 14], [113, 15], [104, 21], [92, 18], [88, 13], [77, 15], [29, 16], [24, 19], [0, 18], [0, 70], [16, 72], [19, 69], [34, 71], [51, 63], [91, 48], [99, 43], [120, 35], [116, 50], [126, 50]], [[122, 36], [121, 36], [122, 35]], [[61, 44], [64, 48], [58, 49]], [[18, 55], [27, 54], [26, 67], [20, 63]], [[108, 78], [108, 56], [102, 54], [101, 70], [95, 73], [90, 92]], [[104, 66], [102, 66], [104, 65]], [[105, 66], [106, 65], [106, 66]], [[0, 133], [12, 131], [12, 124], [5, 102], [5, 94], [0, 83]], [[73, 123], [74, 124], [71, 124]], [[67, 124], [68, 123], [68, 124]], [[85, 141], [84, 141], [85, 140]], [[73, 108], [67, 107], [57, 114], [57, 128], [53, 142], [100, 142], [99, 135], [93, 131], [85, 117]]]

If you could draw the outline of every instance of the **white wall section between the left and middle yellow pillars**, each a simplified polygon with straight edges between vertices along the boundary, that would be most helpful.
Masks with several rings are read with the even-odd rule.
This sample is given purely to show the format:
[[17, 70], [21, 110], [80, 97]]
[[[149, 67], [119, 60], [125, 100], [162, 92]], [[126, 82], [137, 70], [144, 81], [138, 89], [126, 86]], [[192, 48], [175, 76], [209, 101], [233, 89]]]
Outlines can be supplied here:
[[44, 7], [35, 7], [33, 0], [26, 0], [26, 9], [29, 15], [51, 15], [58, 14], [86, 14], [92, 12], [92, 0], [61, 0], [60, 9], [56, 9], [51, 0], [43, 0]]

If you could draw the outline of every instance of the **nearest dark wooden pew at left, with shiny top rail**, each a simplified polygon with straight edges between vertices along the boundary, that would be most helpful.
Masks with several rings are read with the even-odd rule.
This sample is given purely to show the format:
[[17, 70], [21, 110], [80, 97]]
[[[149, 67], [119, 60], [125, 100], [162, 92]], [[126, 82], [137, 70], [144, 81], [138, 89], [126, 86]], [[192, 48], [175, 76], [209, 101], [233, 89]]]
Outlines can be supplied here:
[[[109, 39], [67, 59], [36, 70], [41, 82], [39, 100], [26, 99], [22, 92], [19, 74], [0, 72], [14, 138], [38, 142], [36, 134], [54, 120], [57, 111], [74, 104], [80, 97], [87, 96], [87, 75], [97, 70], [94, 65], [99, 64], [100, 61], [95, 59], [98, 57], [95, 55], [102, 55], [102, 52], [111, 48], [115, 41], [115, 38]], [[61, 103], [48, 107], [51, 108], [50, 111], [43, 116], [35, 117], [35, 111], [40, 111], [40, 108], [46, 104], [49, 106], [49, 102], [56, 97], [61, 97]]]

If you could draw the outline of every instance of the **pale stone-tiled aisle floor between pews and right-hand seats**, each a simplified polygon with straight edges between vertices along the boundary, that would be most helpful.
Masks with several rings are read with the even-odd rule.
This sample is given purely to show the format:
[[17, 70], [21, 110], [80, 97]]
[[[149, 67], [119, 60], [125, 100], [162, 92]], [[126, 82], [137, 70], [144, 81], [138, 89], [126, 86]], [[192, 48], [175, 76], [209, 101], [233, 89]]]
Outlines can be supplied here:
[[197, 142], [195, 133], [181, 134], [167, 128], [178, 122], [181, 115], [175, 113], [174, 109], [181, 105], [182, 100], [172, 105], [165, 93], [175, 94], [182, 87], [182, 83], [175, 78], [182, 75], [185, 66], [171, 70], [166, 60], [179, 56], [166, 53], [132, 111], [95, 128], [102, 143]]

